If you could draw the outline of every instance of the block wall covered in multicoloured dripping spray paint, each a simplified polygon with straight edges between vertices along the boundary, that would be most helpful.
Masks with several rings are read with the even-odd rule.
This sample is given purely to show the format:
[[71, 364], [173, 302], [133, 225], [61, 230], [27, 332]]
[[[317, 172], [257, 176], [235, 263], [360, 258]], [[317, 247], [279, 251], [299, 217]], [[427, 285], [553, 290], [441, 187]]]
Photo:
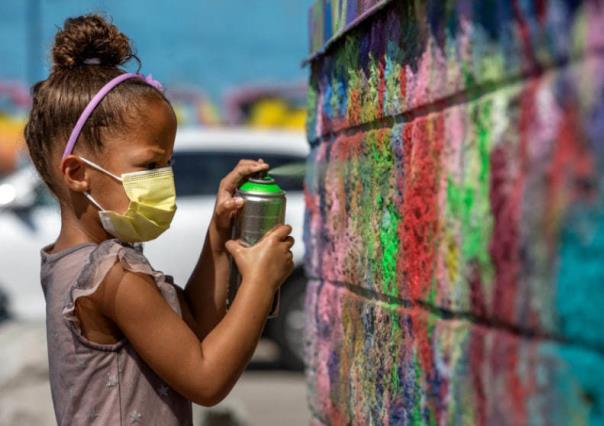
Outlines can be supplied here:
[[604, 2], [318, 0], [316, 424], [604, 424]]

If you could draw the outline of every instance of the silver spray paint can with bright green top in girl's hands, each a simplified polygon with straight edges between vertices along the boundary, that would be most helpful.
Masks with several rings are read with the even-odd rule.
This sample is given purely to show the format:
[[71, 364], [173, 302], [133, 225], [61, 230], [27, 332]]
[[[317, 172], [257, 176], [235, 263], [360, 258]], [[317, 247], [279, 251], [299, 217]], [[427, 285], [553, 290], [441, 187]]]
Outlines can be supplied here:
[[[243, 207], [235, 216], [232, 238], [239, 239], [243, 244], [256, 244], [267, 231], [285, 221], [285, 191], [274, 179], [260, 172], [246, 181], [235, 191], [236, 197], [245, 200]], [[230, 307], [241, 285], [241, 274], [231, 257], [229, 279], [229, 297], [227, 307]], [[269, 318], [279, 315], [279, 290], [275, 294]]]

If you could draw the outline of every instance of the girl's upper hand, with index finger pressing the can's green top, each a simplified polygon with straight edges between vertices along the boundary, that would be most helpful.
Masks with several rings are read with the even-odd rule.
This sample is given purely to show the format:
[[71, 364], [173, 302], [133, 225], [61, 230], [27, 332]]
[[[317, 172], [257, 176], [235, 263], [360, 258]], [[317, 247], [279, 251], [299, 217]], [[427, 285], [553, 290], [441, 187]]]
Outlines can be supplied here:
[[262, 170], [268, 170], [269, 165], [258, 159], [254, 160], [241, 160], [235, 166], [235, 168], [226, 175], [221, 181], [218, 187], [218, 194], [216, 195], [216, 206], [214, 207], [214, 223], [218, 232], [225, 236], [226, 239], [230, 239], [231, 235], [231, 219], [237, 213], [237, 211], [243, 207], [243, 198], [234, 197], [235, 190], [239, 187], [241, 181], [256, 172]]

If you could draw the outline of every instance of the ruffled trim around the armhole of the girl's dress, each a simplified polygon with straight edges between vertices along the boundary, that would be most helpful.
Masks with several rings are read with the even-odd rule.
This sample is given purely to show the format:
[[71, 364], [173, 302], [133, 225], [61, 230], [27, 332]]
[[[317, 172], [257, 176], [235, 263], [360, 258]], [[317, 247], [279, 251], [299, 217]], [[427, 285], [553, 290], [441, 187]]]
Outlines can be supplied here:
[[182, 317], [176, 290], [168, 282], [170, 276], [154, 270], [138, 249], [116, 239], [103, 241], [90, 253], [87, 263], [82, 268], [73, 286], [68, 290], [62, 311], [67, 325], [76, 337], [82, 343], [95, 349], [117, 350], [125, 343], [125, 339], [113, 344], [101, 344], [88, 340], [82, 334], [80, 320], [75, 313], [75, 304], [80, 297], [90, 296], [98, 289], [116, 262], [119, 262], [125, 271], [149, 275], [160, 289], [166, 302]]

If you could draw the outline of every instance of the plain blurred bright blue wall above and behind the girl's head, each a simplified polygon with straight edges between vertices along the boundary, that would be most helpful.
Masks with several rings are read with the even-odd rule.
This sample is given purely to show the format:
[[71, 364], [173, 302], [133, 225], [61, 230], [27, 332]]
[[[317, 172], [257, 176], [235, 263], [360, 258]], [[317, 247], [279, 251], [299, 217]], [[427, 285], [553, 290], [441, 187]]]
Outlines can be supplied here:
[[[0, 80], [44, 78], [57, 26], [105, 11], [134, 41], [143, 72], [168, 85], [202, 87], [215, 101], [248, 83], [299, 82], [310, 0], [22, 0], [0, 2]], [[39, 7], [42, 49], [32, 51], [28, 16]], [[34, 37], [37, 38], [37, 37]], [[33, 59], [32, 59], [33, 56]], [[28, 71], [28, 62], [35, 70]]]

